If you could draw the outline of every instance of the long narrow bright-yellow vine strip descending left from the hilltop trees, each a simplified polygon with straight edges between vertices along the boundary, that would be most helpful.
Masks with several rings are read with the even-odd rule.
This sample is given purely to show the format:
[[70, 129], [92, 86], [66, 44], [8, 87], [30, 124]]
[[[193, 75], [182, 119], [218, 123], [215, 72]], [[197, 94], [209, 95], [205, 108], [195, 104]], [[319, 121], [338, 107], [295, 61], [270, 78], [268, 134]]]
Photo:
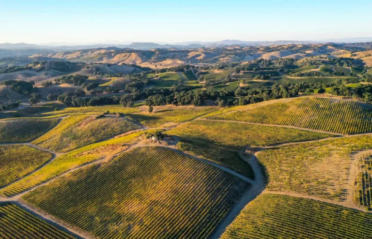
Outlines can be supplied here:
[[57, 157], [24, 179], [1, 189], [0, 194], [7, 197], [14, 196], [50, 179], [54, 179], [70, 169], [99, 159], [112, 157], [127, 149], [127, 144], [135, 142], [140, 135], [147, 132], [154, 132], [154, 130], [141, 131], [72, 150]]

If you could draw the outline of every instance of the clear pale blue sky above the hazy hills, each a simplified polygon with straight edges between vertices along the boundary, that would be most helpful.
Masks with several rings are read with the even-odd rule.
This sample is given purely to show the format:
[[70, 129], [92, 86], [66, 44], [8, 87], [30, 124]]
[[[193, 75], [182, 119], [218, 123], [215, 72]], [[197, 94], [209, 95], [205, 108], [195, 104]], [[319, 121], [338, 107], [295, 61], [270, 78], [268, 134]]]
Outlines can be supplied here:
[[0, 0], [0, 43], [372, 37], [372, 0]]

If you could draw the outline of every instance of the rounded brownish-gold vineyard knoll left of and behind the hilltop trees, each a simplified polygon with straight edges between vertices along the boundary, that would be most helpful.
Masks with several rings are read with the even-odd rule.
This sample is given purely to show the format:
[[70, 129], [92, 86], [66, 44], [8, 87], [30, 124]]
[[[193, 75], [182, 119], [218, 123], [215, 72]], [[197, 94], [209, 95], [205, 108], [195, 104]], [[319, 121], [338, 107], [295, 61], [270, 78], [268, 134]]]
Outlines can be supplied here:
[[[70, 123], [66, 123], [66, 125], [67, 124], [69, 125]], [[61, 128], [63, 128], [62, 131]], [[69, 127], [56, 128], [58, 132], [53, 132], [52, 130], [50, 134], [47, 135], [47, 138], [43, 137], [43, 139], [45, 139], [44, 141], [37, 139], [33, 143], [51, 151], [67, 152], [139, 128], [139, 125], [122, 117], [105, 116], [96, 119], [95, 116], [90, 116], [84, 117], [83, 120], [79, 120], [69, 125]], [[53, 136], [51, 136], [52, 134]]]

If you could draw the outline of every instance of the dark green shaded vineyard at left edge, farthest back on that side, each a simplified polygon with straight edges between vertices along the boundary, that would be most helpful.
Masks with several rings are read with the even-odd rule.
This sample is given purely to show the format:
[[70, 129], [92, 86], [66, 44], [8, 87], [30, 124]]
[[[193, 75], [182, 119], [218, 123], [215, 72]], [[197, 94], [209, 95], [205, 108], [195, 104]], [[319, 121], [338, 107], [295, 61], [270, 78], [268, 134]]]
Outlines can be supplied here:
[[43, 120], [0, 121], [0, 143], [28, 142], [47, 133], [58, 123], [58, 118]]

